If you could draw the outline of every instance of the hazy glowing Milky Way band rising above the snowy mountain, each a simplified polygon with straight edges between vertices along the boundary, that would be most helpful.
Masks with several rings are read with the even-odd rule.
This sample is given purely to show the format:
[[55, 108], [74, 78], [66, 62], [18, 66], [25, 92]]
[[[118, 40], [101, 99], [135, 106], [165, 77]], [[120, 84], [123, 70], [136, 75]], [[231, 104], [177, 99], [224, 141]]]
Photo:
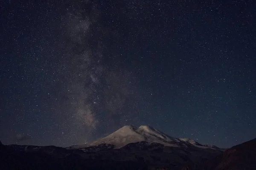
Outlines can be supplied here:
[[[83, 3], [81, 3], [83, 4]], [[102, 56], [102, 32], [97, 23], [100, 12], [90, 3], [85, 9], [74, 7], [63, 19], [62, 72], [67, 84], [65, 90], [68, 123], [74, 136], [91, 140], [97, 127], [105, 131], [135, 122], [139, 97], [135, 93], [136, 79], [131, 72], [118, 65], [104, 63]], [[88, 12], [90, 11], [90, 12]], [[108, 62], [108, 58], [105, 59]], [[133, 119], [133, 121], [131, 121]]]

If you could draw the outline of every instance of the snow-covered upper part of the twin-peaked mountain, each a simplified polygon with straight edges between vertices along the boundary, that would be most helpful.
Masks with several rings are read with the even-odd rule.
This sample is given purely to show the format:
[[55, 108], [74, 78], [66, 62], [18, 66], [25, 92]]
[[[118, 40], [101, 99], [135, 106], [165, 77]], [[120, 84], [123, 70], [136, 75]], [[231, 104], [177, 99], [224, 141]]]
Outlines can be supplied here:
[[70, 148], [84, 148], [88, 146], [96, 146], [102, 143], [113, 144], [116, 148], [124, 147], [126, 144], [135, 142], [148, 142], [148, 143], [160, 143], [165, 146], [171, 147], [186, 147], [187, 145], [193, 145], [201, 148], [212, 148], [206, 145], [199, 144], [198, 142], [188, 138], [173, 138], [166, 135], [163, 132], [155, 129], [154, 127], [142, 125], [140, 127], [134, 127], [131, 125], [125, 125], [124, 127], [116, 130], [114, 133], [99, 139], [91, 144], [77, 145]]

